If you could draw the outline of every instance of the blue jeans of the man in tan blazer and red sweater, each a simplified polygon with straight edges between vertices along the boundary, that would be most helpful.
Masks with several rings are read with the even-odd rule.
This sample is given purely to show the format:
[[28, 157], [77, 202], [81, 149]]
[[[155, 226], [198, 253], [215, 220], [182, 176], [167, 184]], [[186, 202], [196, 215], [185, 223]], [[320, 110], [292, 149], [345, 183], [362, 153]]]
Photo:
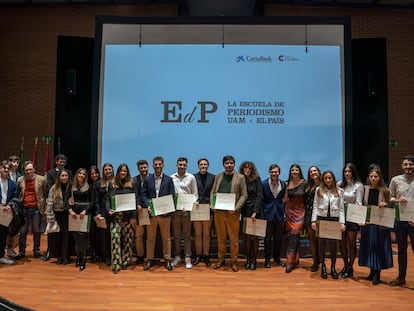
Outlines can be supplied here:
[[27, 233], [30, 229], [30, 224], [32, 225], [33, 230], [33, 252], [38, 252], [40, 250], [40, 221], [42, 220], [42, 215], [37, 208], [23, 208], [23, 215], [25, 218], [24, 226], [20, 229], [20, 239], [19, 239], [19, 251], [20, 253], [26, 253], [26, 239]]

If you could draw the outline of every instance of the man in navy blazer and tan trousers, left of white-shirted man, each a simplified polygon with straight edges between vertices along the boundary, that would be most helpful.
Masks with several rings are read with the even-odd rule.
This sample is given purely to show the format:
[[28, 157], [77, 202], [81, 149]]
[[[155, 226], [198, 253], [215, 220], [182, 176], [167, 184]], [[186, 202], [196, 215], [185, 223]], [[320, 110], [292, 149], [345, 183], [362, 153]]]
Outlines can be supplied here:
[[[150, 199], [167, 195], [174, 196], [174, 183], [172, 181], [172, 178], [163, 173], [164, 159], [160, 156], [155, 157], [152, 161], [152, 167], [154, 168], [154, 174], [151, 174], [145, 178], [144, 184], [142, 185], [141, 206], [142, 208], [146, 209], [149, 207]], [[148, 212], [150, 212], [149, 209]], [[144, 270], [149, 270], [154, 264], [153, 260], [158, 226], [160, 227], [165, 268], [167, 270], [172, 270], [170, 261], [170, 214], [154, 216], [151, 218], [151, 224], [147, 227], [147, 262], [144, 265]]]

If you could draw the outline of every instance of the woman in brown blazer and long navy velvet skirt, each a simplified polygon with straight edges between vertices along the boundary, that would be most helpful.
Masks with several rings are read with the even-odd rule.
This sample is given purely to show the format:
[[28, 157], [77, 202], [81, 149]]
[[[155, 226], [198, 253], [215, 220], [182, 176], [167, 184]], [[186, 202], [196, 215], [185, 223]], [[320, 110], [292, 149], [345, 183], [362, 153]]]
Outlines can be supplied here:
[[[379, 167], [368, 172], [369, 185], [365, 186], [364, 205], [375, 205], [379, 208], [389, 208], [390, 190], [387, 188]], [[366, 223], [361, 226], [361, 241], [359, 247], [360, 266], [371, 269], [367, 280], [378, 285], [381, 270], [392, 268], [392, 249], [390, 229], [375, 224]]]

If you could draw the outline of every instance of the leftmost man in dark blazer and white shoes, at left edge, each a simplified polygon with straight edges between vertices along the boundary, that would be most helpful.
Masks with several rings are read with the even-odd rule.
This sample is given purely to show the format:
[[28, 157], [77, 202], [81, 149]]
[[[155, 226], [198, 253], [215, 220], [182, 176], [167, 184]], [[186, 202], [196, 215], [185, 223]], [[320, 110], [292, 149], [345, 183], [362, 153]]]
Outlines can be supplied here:
[[[9, 177], [9, 162], [0, 163], [0, 213], [12, 213], [8, 205], [10, 200], [17, 196], [16, 183]], [[8, 227], [0, 225], [0, 263], [11, 265], [13, 260], [4, 257]]]

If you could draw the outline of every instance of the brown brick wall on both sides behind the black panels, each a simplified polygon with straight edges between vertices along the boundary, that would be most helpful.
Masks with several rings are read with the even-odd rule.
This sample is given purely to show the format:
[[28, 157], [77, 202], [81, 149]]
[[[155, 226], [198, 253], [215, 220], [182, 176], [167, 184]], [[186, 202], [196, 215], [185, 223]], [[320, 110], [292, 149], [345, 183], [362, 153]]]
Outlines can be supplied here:
[[[25, 137], [25, 159], [31, 159], [36, 136], [60, 135], [62, 150], [69, 156], [70, 167], [87, 166], [78, 162], [83, 152], [67, 150], [67, 144], [78, 143], [76, 137], [67, 135], [66, 126], [76, 128], [78, 120], [87, 115], [77, 107], [79, 103], [69, 97], [69, 107], [74, 107], [74, 123], [59, 129], [60, 102], [57, 82], [59, 37], [93, 38], [97, 15], [118, 16], [177, 16], [175, 5], [118, 5], [118, 6], [58, 6], [0, 8], [0, 158], [18, 154], [21, 138]], [[352, 39], [381, 38], [386, 40], [386, 97], [388, 111], [388, 137], [397, 143], [384, 151], [379, 160], [388, 163], [388, 175], [400, 173], [400, 161], [404, 154], [413, 153], [414, 136], [414, 10], [409, 9], [352, 9], [306, 6], [269, 5], [265, 16], [349, 16]], [[69, 68], [69, 67], [68, 67]], [[69, 68], [73, 69], [73, 68]], [[76, 68], [75, 68], [76, 69]], [[66, 75], [65, 70], [63, 74]], [[77, 73], [77, 78], [79, 73]], [[366, 75], [354, 76], [354, 83], [363, 83]], [[66, 99], [64, 99], [66, 102]], [[66, 104], [65, 104], [66, 105]], [[67, 109], [68, 107], [65, 106]], [[80, 110], [76, 110], [80, 109]], [[77, 112], [76, 112], [77, 111]], [[56, 114], [58, 113], [58, 114]], [[79, 113], [82, 116], [79, 116]], [[56, 117], [55, 117], [56, 116]], [[57, 124], [55, 132], [55, 123]], [[78, 135], [78, 134], [76, 134]], [[73, 135], [73, 136], [76, 136]], [[361, 143], [362, 144], [362, 143]], [[44, 169], [45, 144], [38, 146], [39, 171]], [[83, 147], [82, 147], [83, 148]], [[69, 149], [74, 149], [73, 147]], [[358, 152], [358, 150], [355, 150]], [[366, 147], [367, 159], [376, 151]], [[85, 159], [87, 156], [85, 157]], [[71, 161], [75, 161], [71, 164]], [[362, 160], [359, 160], [362, 161]], [[364, 160], [370, 161], [370, 160]], [[79, 163], [79, 164], [78, 164]], [[364, 166], [361, 162], [361, 166]], [[365, 168], [360, 168], [360, 171]]]

